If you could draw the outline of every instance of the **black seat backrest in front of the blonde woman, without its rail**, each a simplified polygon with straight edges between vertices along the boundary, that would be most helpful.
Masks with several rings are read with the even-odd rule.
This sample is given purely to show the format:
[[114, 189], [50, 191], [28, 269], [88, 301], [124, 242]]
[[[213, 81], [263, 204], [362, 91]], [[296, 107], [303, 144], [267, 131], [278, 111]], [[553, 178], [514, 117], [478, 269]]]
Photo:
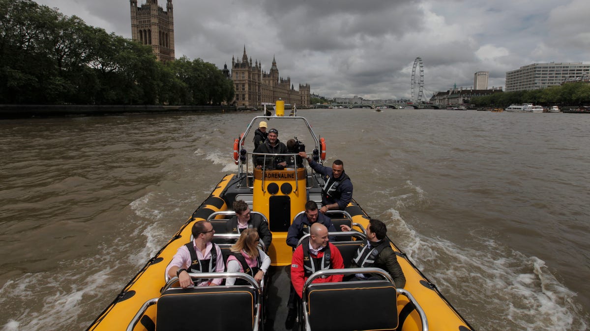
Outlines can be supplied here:
[[251, 286], [169, 289], [156, 304], [156, 331], [252, 331], [255, 295]]

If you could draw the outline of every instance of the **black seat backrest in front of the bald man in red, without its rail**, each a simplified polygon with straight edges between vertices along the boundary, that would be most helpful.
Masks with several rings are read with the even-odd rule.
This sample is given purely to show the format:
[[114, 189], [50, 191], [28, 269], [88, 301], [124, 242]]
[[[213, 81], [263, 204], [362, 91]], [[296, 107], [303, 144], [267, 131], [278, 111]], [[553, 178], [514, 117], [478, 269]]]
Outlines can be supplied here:
[[311, 284], [304, 296], [312, 330], [395, 330], [398, 327], [395, 286], [386, 280]]

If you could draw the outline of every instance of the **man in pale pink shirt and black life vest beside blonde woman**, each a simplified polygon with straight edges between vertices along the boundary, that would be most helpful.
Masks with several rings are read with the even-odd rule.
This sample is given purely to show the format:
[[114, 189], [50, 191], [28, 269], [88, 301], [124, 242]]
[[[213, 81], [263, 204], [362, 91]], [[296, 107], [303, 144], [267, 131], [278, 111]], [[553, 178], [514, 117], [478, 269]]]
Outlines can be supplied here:
[[[179, 247], [172, 261], [166, 267], [166, 274], [169, 277], [178, 277], [183, 289], [194, 285], [189, 272], [208, 273], [224, 272], [224, 261], [221, 249], [211, 240], [215, 234], [213, 225], [208, 221], [196, 221], [192, 226], [194, 239]], [[222, 278], [201, 280], [197, 286], [216, 286], [221, 284]]]

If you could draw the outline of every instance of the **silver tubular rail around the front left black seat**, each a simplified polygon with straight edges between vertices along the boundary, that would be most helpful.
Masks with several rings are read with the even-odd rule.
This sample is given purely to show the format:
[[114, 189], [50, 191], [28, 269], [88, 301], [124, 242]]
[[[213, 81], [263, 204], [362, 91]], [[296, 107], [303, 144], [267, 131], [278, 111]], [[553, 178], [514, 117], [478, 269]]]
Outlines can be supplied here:
[[[261, 317], [261, 312], [262, 312], [262, 304], [263, 304], [263, 288], [264, 288], [264, 279], [263, 282], [261, 284], [258, 284], [258, 282], [256, 282], [256, 280], [254, 279], [254, 277], [250, 276], [249, 274], [245, 274], [245, 273], [241, 273], [241, 272], [224, 272], [224, 273], [189, 273], [189, 276], [191, 276], [191, 279], [199, 279], [199, 278], [241, 278], [246, 280], [248, 283], [250, 283], [250, 285], [252, 287], [254, 287], [254, 290], [257, 294], [257, 302], [256, 302], [256, 309], [255, 309], [255, 319], [254, 319], [254, 326], [253, 326], [253, 331], [257, 331], [258, 328], [260, 327], [260, 317]], [[164, 293], [166, 290], [171, 289], [171, 288], [176, 288], [173, 287], [174, 284], [178, 283], [178, 277], [172, 277], [172, 279], [168, 280], [168, 282], [166, 282], [166, 285], [164, 287], [162, 287], [162, 290], [160, 291], [160, 294]], [[231, 287], [232, 285], [224, 285], [222, 287]], [[143, 303], [142, 307], [137, 311], [137, 313], [135, 314], [135, 316], [133, 316], [133, 319], [129, 322], [129, 325], [127, 325], [127, 331], [133, 331], [133, 328], [135, 328], [135, 326], [137, 325], [137, 322], [139, 322], [139, 319], [143, 316], [143, 314], [145, 314], [146, 310], [148, 309], [149, 306], [152, 306], [153, 304], [157, 304], [158, 303], [158, 299], [159, 297], [155, 297], [152, 299], [149, 299], [148, 301], [146, 301], [145, 303]], [[156, 320], [156, 323], [158, 323], [158, 321]]]

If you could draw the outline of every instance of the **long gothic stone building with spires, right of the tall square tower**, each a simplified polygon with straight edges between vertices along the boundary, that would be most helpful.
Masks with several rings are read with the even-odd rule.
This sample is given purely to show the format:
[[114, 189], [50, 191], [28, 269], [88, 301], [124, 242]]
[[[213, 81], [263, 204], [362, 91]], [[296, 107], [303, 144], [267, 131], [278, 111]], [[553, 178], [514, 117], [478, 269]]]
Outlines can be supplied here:
[[258, 60], [252, 64], [252, 58], [248, 59], [246, 47], [241, 61], [231, 59], [231, 79], [234, 81], [235, 104], [246, 107], [260, 107], [262, 102], [273, 103], [279, 99], [286, 104], [297, 107], [309, 107], [310, 85], [299, 84], [299, 91], [291, 84], [291, 78], [283, 78], [278, 74], [277, 61], [273, 57], [273, 66], [270, 71], [262, 69]]

